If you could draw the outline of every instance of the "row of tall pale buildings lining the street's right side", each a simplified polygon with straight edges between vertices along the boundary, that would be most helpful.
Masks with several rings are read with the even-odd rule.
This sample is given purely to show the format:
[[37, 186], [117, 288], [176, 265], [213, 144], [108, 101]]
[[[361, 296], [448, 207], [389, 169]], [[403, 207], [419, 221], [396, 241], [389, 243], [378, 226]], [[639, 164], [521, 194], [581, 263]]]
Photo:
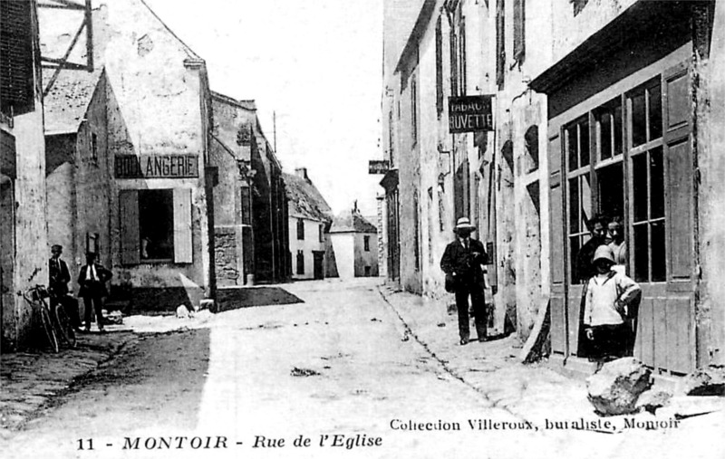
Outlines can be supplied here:
[[[550, 319], [552, 361], [585, 367], [574, 262], [589, 219], [617, 216], [644, 292], [635, 356], [673, 375], [721, 364], [723, 3], [385, 4], [410, 24], [402, 46], [384, 28], [389, 279], [446, 301], [440, 256], [469, 216], [493, 327], [527, 339]], [[451, 134], [449, 98], [478, 95], [492, 129]]]

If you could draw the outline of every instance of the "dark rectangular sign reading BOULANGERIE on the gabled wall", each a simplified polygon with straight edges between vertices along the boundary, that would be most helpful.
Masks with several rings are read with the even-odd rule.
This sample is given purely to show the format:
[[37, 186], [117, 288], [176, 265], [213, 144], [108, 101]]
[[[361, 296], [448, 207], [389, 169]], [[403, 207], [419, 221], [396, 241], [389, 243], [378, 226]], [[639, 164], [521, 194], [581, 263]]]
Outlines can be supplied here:
[[197, 155], [117, 155], [116, 178], [198, 178]]

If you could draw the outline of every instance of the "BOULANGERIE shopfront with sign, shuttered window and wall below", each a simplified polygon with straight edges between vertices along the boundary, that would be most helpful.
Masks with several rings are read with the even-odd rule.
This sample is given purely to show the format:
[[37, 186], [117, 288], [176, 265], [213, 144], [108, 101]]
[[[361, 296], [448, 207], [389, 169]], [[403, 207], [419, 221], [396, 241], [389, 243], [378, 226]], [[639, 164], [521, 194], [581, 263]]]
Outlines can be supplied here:
[[198, 155], [116, 155], [119, 289], [134, 308], [193, 305], [208, 285], [207, 231]]

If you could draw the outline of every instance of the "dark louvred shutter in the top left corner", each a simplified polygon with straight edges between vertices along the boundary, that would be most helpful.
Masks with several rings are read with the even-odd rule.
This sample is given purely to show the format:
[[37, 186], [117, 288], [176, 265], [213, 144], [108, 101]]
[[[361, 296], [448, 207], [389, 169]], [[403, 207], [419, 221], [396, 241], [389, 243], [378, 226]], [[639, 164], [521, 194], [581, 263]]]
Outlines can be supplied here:
[[0, 110], [34, 108], [34, 33], [30, 0], [0, 0]]

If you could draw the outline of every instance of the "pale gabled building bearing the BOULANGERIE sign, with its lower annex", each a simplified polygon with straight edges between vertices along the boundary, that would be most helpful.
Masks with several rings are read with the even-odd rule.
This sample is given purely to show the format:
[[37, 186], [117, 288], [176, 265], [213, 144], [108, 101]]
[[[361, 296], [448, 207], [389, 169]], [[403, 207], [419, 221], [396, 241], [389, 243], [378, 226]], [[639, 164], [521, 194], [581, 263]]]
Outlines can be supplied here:
[[[43, 12], [43, 53], [73, 12]], [[111, 267], [111, 300], [169, 310], [213, 297], [206, 66], [140, 0], [92, 11], [91, 72], [48, 70], [48, 231], [74, 273], [87, 251]], [[65, 43], [64, 43], [65, 40]], [[88, 43], [85, 43], [88, 45]]]

